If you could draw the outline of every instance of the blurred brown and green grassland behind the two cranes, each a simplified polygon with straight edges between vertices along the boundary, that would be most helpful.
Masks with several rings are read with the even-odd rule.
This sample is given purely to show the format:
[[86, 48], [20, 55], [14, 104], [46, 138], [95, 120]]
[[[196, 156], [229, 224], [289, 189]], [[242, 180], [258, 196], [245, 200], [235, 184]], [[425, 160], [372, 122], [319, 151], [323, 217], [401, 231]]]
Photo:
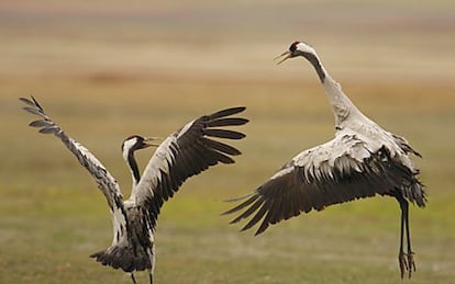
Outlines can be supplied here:
[[[412, 281], [455, 279], [454, 1], [3, 0], [0, 37], [1, 283], [130, 283], [88, 258], [111, 242], [108, 206], [60, 141], [27, 127], [34, 117], [18, 98], [30, 94], [125, 196], [126, 136], [167, 136], [201, 114], [247, 107], [237, 163], [190, 179], [165, 204], [157, 283], [401, 283], [392, 198], [332, 206], [259, 237], [219, 216], [232, 206], [223, 200], [333, 137], [312, 67], [273, 60], [297, 39], [364, 113], [423, 155], [429, 205], [411, 207]], [[142, 166], [151, 155], [140, 154]]]

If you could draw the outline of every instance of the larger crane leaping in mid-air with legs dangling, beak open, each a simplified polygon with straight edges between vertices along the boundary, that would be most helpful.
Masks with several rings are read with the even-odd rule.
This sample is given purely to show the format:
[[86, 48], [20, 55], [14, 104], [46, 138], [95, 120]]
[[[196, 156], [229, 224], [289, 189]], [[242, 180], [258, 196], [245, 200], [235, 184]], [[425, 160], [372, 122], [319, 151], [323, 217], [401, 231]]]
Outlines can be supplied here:
[[325, 90], [335, 116], [335, 137], [298, 154], [256, 190], [231, 200], [242, 203], [223, 214], [238, 214], [231, 224], [249, 218], [242, 230], [263, 219], [258, 235], [269, 225], [301, 213], [377, 194], [392, 196], [401, 209], [398, 254], [401, 279], [406, 271], [411, 277], [415, 262], [409, 232], [409, 202], [424, 207], [426, 194], [410, 156], [421, 155], [403, 137], [382, 129], [364, 115], [329, 75], [311, 45], [292, 43], [289, 50], [277, 57], [281, 58], [278, 64], [300, 56], [314, 67]]

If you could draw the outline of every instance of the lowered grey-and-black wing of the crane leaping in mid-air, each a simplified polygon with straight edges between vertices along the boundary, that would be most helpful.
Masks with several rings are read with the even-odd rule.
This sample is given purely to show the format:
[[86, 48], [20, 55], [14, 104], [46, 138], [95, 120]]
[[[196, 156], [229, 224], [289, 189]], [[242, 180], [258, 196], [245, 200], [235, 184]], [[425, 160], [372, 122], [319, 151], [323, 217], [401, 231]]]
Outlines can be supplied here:
[[[386, 146], [387, 145], [387, 146]], [[425, 195], [418, 171], [407, 167], [409, 159], [390, 155], [390, 145], [369, 141], [347, 130], [333, 140], [302, 151], [253, 193], [225, 212], [242, 212], [231, 223], [251, 218], [242, 230], [262, 224], [256, 235], [269, 225], [300, 213], [401, 190], [403, 196], [423, 206]]]

